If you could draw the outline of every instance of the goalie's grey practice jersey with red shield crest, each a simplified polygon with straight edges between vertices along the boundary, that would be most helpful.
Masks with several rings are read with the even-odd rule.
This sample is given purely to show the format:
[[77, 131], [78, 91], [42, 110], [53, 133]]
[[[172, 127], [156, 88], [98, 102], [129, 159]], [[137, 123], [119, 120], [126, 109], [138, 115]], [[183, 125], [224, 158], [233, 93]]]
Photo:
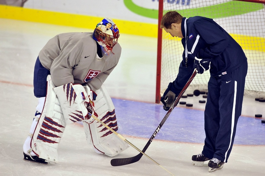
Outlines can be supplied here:
[[116, 67], [120, 55], [120, 44], [112, 52], [97, 57], [97, 44], [92, 32], [70, 32], [54, 36], [39, 52], [43, 67], [49, 69], [55, 86], [72, 82], [86, 83], [92, 90], [99, 89]]

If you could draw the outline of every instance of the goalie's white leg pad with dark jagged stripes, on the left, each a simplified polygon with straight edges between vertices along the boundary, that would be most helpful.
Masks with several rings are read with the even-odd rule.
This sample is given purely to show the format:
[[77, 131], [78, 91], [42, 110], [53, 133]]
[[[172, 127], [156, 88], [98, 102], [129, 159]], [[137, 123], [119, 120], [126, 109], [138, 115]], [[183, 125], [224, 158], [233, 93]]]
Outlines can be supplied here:
[[47, 77], [47, 95], [42, 114], [34, 131], [31, 148], [33, 152], [47, 162], [58, 162], [57, 147], [66, 123], [60, 103], [53, 90], [51, 75]]

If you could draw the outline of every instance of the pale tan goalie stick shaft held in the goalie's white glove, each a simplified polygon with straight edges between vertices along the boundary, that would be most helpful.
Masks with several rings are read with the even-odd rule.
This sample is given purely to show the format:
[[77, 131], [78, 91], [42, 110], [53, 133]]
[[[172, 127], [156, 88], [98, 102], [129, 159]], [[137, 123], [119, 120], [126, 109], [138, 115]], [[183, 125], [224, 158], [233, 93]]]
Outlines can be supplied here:
[[[98, 122], [100, 122], [103, 126], [105, 126], [107, 129], [109, 129], [111, 132], [113, 132], [115, 135], [117, 135], [120, 139], [122, 139], [123, 141], [127, 142], [129, 145], [131, 145], [133, 148], [135, 148], [136, 150], [138, 150], [140, 152], [140, 154], [143, 156], [145, 155], [146, 157], [148, 157], [150, 160], [152, 160], [153, 162], [155, 162], [155, 164], [159, 165], [160, 167], [162, 167], [164, 170], [166, 170], [163, 166], [161, 166], [160, 164], [158, 164], [158, 162], [156, 162], [155, 160], [153, 160], [152, 158], [150, 158], [148, 155], [146, 155], [144, 152], [142, 152], [140, 149], [138, 149], [137, 147], [135, 147], [135, 145], [133, 145], [132, 143], [130, 143], [128, 140], [125, 139], [125, 137], [123, 137], [122, 135], [120, 135], [119, 133], [115, 132], [112, 128], [110, 128], [109, 126], [107, 126], [104, 122], [102, 122], [100, 119], [98, 119], [95, 115], [91, 114], [90, 112], [88, 112], [88, 114], [94, 118], [95, 120], [97, 120]], [[171, 175], [173, 175], [171, 172], [169, 172], [168, 170], [166, 170], [168, 173], [170, 173]]]

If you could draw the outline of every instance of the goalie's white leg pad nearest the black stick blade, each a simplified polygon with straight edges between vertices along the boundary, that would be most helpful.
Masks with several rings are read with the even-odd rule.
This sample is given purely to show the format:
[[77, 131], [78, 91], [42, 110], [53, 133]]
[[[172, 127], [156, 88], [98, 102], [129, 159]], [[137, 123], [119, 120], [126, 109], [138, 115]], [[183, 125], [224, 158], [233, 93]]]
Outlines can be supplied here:
[[[118, 130], [115, 115], [115, 107], [104, 85], [95, 92], [97, 94], [94, 100], [95, 112], [98, 119], [107, 124], [114, 131]], [[116, 156], [129, 146], [121, 140], [117, 135], [104, 127], [96, 120], [92, 123], [83, 122], [84, 130], [87, 136], [88, 144], [92, 145], [95, 152], [108, 156]]]

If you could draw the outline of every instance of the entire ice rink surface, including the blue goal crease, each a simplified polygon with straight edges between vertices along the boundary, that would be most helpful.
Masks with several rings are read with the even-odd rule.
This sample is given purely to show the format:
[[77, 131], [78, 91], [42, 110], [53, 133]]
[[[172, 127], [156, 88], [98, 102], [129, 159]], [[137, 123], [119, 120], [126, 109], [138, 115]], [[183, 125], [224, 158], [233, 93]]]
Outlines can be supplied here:
[[[67, 125], [58, 147], [59, 163], [23, 160], [22, 146], [37, 105], [33, 70], [38, 53], [56, 34], [84, 31], [89, 30], [0, 19], [0, 175], [170, 175], [145, 156], [130, 165], [111, 166], [111, 159], [139, 152], [129, 147], [115, 157], [99, 155], [87, 144], [81, 123]], [[154, 103], [157, 41], [121, 34], [118, 42], [122, 46], [120, 62], [105, 86], [115, 105], [118, 132], [142, 150], [166, 114], [161, 104]], [[255, 97], [244, 97], [233, 149], [223, 169], [209, 173], [208, 167], [191, 165], [191, 156], [201, 153], [205, 137], [205, 103], [198, 103], [201, 99], [206, 100], [202, 95], [182, 98], [180, 101], [193, 107], [175, 107], [145, 153], [174, 175], [265, 175], [265, 124], [261, 123], [265, 102], [257, 102]], [[263, 117], [255, 118], [255, 114]]]

